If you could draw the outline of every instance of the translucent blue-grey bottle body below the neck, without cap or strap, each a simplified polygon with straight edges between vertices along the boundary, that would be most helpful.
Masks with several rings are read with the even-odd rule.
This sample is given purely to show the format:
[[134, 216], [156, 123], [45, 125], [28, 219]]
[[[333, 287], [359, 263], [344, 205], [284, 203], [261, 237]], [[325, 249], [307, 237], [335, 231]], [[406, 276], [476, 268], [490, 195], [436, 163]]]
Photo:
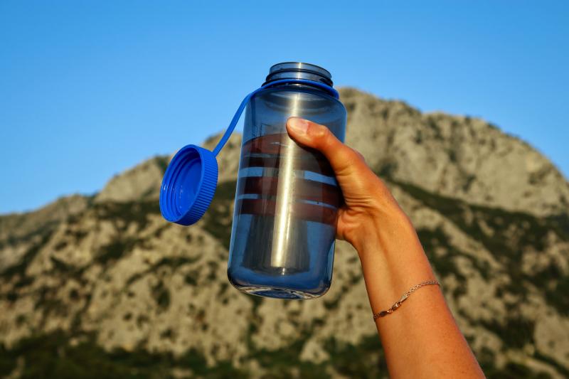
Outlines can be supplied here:
[[245, 111], [228, 278], [243, 292], [311, 299], [330, 287], [341, 191], [329, 162], [287, 134], [296, 116], [341, 141], [346, 109], [310, 85], [268, 87]]

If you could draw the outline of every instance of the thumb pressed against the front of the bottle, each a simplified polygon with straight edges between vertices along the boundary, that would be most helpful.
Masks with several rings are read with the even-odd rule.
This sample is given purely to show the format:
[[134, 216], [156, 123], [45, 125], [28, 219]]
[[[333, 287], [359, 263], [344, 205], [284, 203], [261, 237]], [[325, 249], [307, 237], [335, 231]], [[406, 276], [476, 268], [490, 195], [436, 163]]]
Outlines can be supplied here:
[[365, 164], [356, 151], [340, 142], [330, 129], [323, 125], [299, 117], [289, 117], [287, 132], [299, 144], [324, 154], [336, 176], [349, 174]]

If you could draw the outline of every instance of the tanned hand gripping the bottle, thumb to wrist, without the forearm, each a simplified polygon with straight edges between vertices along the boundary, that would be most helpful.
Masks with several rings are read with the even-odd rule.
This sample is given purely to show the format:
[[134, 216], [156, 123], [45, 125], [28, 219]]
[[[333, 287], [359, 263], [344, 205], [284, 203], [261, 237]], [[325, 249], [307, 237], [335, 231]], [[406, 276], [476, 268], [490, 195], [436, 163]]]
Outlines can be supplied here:
[[385, 183], [373, 174], [363, 156], [340, 142], [330, 129], [306, 119], [290, 117], [287, 132], [297, 143], [324, 154], [336, 174], [345, 201], [338, 214], [337, 238], [350, 242], [361, 252], [366, 239], [379, 237], [381, 230], [401, 223], [410, 224]]

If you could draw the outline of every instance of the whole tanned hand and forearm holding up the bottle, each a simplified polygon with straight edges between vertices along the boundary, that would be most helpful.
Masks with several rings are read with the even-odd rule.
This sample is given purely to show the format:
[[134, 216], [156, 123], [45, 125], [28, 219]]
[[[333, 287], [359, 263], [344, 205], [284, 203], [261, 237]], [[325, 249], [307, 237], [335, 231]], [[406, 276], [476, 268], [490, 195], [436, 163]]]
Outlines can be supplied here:
[[[330, 162], [344, 195], [336, 237], [358, 251], [373, 312], [388, 309], [415, 284], [435, 275], [412, 223], [363, 156], [327, 127], [287, 121], [298, 144]], [[376, 319], [393, 378], [484, 378], [438, 286], [421, 287], [397, 311]]]

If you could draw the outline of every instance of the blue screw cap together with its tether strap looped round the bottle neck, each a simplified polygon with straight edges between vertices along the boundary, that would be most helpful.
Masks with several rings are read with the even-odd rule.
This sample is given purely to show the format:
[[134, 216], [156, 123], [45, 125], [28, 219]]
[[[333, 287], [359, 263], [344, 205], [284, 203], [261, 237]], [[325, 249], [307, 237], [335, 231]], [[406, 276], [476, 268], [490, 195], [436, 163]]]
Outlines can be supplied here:
[[245, 96], [213, 151], [190, 144], [182, 147], [170, 161], [160, 188], [160, 211], [166, 220], [180, 225], [192, 225], [198, 222], [203, 213], [206, 213], [218, 183], [216, 156], [233, 133], [251, 97], [267, 87], [281, 84], [307, 84], [320, 87], [336, 99], [339, 98], [338, 91], [333, 87], [304, 79], [267, 82]]

